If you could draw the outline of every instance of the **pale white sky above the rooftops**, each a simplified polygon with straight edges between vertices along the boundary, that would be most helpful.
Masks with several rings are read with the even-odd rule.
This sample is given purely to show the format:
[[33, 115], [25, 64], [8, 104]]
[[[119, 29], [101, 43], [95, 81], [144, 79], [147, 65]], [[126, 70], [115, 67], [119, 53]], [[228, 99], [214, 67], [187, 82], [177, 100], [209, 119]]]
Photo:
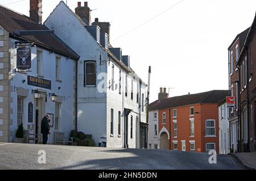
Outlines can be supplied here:
[[[27, 16], [29, 2], [0, 0]], [[43, 0], [43, 21], [59, 2]], [[75, 11], [77, 1], [68, 6]], [[93, 0], [88, 6], [92, 21], [110, 22], [110, 43], [131, 57], [144, 82], [151, 66], [150, 102], [160, 87], [170, 96], [228, 90], [228, 47], [256, 11], [255, 0]]]

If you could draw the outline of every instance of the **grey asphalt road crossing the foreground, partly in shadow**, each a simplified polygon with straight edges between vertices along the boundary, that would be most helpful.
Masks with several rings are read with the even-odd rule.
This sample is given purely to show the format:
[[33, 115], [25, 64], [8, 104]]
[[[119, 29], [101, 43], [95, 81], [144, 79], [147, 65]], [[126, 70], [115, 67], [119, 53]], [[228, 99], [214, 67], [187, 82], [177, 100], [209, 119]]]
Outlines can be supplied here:
[[[39, 150], [46, 151], [46, 164], [38, 163]], [[210, 155], [172, 150], [113, 149], [80, 146], [0, 143], [0, 169], [176, 170], [243, 169], [229, 155]]]

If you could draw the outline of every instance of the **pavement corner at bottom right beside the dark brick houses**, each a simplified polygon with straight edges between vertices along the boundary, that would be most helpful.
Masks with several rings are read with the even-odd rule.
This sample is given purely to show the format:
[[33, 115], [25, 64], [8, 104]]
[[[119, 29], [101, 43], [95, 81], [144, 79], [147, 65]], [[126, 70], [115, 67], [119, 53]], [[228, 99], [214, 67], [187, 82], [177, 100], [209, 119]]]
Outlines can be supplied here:
[[256, 169], [256, 152], [251, 153], [232, 153], [230, 154], [237, 159], [246, 169]]

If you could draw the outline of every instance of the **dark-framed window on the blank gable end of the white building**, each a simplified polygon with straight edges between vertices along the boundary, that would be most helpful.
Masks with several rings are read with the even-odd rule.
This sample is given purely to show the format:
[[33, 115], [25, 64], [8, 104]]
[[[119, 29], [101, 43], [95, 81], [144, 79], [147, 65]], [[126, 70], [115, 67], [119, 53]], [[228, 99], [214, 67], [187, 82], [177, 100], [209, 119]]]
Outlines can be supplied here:
[[85, 86], [96, 86], [96, 62], [85, 62]]

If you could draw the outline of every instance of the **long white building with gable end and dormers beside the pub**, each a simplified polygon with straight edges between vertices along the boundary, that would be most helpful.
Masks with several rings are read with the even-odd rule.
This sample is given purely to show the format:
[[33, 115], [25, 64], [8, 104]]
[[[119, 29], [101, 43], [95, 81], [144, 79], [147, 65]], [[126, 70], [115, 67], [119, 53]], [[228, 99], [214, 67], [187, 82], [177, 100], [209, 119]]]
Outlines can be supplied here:
[[75, 14], [63, 1], [44, 22], [80, 56], [77, 129], [99, 146], [146, 148], [147, 85], [130, 68], [130, 57], [110, 45], [110, 24], [90, 22], [87, 2]]

